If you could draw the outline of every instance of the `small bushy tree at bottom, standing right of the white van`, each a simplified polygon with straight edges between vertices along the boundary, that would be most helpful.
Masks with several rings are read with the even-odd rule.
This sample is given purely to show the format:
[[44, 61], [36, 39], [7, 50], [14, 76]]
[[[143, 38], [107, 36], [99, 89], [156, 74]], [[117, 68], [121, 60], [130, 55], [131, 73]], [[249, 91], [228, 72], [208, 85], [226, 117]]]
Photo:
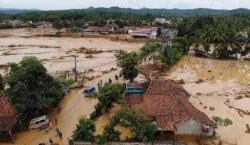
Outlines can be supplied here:
[[94, 141], [95, 136], [95, 124], [94, 121], [87, 118], [81, 118], [76, 125], [76, 129], [73, 132], [73, 140], [76, 141]]

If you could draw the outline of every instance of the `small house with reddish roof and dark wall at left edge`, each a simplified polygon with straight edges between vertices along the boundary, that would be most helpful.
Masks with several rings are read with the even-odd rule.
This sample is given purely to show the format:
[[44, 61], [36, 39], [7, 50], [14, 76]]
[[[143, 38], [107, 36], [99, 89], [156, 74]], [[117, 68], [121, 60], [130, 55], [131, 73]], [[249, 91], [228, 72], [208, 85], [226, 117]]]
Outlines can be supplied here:
[[12, 139], [13, 127], [17, 123], [16, 110], [5, 97], [0, 97], [0, 139]]

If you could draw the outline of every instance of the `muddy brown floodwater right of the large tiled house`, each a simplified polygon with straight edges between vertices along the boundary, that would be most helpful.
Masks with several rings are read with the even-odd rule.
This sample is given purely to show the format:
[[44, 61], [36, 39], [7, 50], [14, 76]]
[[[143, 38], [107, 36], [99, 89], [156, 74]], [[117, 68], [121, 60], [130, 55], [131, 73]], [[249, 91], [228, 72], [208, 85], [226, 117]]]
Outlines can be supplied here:
[[165, 78], [185, 81], [190, 101], [211, 119], [229, 118], [233, 124], [216, 129], [225, 145], [249, 145], [250, 61], [213, 60], [185, 56]]

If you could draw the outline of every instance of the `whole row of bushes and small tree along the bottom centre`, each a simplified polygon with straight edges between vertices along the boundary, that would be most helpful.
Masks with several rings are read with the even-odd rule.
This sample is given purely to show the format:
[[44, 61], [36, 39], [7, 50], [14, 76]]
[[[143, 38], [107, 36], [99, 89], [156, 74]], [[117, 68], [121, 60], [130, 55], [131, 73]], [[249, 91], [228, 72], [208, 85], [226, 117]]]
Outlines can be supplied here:
[[117, 125], [130, 129], [130, 140], [133, 141], [153, 141], [157, 131], [156, 125], [151, 123], [144, 113], [134, 109], [122, 108], [112, 117], [104, 128], [102, 135], [94, 136], [94, 122], [90, 119], [82, 118], [79, 120], [72, 137], [75, 141], [94, 141], [98, 145], [120, 141], [121, 132], [115, 130]]

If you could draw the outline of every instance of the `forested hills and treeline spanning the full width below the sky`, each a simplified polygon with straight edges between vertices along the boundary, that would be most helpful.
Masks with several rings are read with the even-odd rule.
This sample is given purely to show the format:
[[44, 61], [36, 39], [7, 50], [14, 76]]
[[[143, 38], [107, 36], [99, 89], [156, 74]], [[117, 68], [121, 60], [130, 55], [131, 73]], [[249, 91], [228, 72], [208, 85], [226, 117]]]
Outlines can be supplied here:
[[[13, 13], [11, 12], [13, 10]], [[248, 9], [213, 10], [213, 9], [130, 9], [130, 8], [88, 8], [75, 10], [39, 11], [39, 10], [0, 9], [0, 22], [4, 19], [23, 21], [49, 21], [54, 27], [105, 26], [107, 20], [115, 20], [119, 27], [150, 25], [155, 18], [165, 17], [172, 20], [186, 16], [235, 16], [250, 15]], [[5, 12], [5, 14], [1, 14]]]

